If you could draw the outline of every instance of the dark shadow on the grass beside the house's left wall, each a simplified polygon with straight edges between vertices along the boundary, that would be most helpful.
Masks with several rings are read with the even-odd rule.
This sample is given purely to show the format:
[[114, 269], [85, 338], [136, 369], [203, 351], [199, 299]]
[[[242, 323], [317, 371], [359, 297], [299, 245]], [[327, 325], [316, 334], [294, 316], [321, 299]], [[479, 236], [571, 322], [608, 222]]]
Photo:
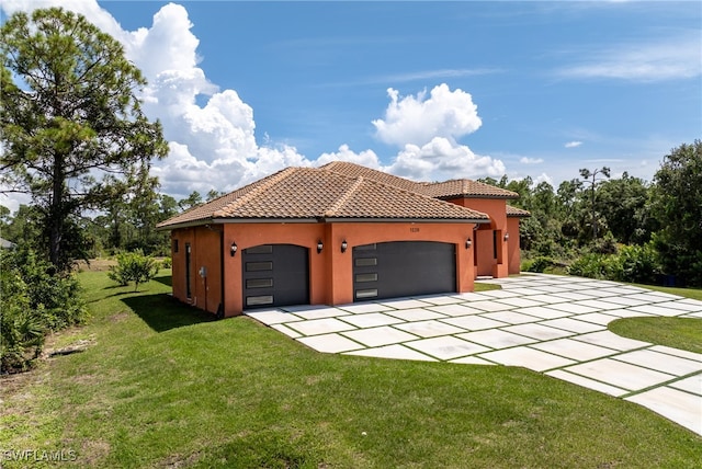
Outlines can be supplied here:
[[214, 314], [183, 305], [168, 294], [137, 295], [122, 301], [156, 332], [215, 320]]

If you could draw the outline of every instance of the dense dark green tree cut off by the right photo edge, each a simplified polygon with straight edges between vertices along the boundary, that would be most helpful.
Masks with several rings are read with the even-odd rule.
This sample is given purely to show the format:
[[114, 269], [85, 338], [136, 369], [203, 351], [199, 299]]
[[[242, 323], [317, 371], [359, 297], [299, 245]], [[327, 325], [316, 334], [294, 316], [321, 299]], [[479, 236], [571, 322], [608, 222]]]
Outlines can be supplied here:
[[702, 140], [664, 157], [654, 176], [655, 244], [669, 274], [702, 285]]

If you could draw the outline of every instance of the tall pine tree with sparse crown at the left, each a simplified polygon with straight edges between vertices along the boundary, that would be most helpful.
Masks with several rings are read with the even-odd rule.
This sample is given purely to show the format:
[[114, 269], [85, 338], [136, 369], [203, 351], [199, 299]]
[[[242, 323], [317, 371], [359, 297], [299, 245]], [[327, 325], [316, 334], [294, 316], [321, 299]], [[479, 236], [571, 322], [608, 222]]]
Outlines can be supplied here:
[[77, 255], [70, 234], [80, 215], [144, 178], [167, 144], [140, 110], [140, 71], [84, 16], [20, 12], [0, 31], [0, 183], [4, 193], [31, 194], [42, 215], [39, 245], [65, 271]]

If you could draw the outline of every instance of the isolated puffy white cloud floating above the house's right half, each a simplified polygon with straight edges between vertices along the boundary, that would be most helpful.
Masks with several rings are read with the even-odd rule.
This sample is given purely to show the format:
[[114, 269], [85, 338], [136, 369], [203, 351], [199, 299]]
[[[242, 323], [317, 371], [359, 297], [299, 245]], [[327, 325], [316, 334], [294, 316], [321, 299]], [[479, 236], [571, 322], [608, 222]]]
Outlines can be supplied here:
[[403, 147], [407, 144], [423, 145], [434, 137], [455, 140], [477, 130], [483, 122], [469, 93], [451, 91], [445, 83], [417, 96], [399, 96], [388, 89], [390, 103], [385, 119], [373, 121], [380, 140]]

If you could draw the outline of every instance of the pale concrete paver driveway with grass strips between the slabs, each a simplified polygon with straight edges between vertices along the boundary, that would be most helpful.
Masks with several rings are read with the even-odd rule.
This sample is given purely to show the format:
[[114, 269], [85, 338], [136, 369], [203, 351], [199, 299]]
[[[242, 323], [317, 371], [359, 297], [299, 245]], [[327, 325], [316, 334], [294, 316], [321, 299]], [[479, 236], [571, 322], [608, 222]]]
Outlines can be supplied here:
[[702, 320], [702, 301], [545, 274], [479, 282], [502, 289], [247, 314], [324, 353], [522, 366], [636, 402], [702, 435], [702, 354], [607, 329], [629, 317]]

